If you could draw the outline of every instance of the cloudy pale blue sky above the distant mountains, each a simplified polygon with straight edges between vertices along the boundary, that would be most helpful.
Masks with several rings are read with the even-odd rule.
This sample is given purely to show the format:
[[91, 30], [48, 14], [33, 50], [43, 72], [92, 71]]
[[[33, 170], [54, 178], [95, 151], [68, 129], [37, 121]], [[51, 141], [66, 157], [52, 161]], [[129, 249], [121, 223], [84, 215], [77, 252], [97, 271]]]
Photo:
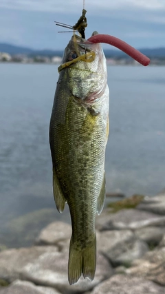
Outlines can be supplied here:
[[[97, 30], [138, 49], [165, 47], [165, 0], [85, 0], [85, 9], [86, 39]], [[72, 33], [54, 21], [74, 25], [82, 10], [83, 0], [0, 0], [0, 43], [63, 50]]]

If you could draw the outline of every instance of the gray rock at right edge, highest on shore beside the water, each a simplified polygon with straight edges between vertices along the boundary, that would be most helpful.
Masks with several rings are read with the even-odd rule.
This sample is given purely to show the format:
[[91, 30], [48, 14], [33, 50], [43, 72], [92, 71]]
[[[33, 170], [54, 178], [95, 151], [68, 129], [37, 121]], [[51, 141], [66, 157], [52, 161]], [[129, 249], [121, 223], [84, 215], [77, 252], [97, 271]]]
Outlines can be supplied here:
[[136, 209], [151, 211], [160, 215], [165, 215], [165, 192], [162, 191], [154, 197], [144, 197], [144, 200], [136, 207]]

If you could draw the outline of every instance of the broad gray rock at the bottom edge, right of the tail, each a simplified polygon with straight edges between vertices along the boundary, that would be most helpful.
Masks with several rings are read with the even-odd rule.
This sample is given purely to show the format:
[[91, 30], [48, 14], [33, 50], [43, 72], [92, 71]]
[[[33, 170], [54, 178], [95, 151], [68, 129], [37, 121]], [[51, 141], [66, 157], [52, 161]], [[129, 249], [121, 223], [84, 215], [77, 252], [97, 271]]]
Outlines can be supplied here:
[[113, 275], [94, 288], [91, 294], [164, 294], [165, 288], [140, 277]]

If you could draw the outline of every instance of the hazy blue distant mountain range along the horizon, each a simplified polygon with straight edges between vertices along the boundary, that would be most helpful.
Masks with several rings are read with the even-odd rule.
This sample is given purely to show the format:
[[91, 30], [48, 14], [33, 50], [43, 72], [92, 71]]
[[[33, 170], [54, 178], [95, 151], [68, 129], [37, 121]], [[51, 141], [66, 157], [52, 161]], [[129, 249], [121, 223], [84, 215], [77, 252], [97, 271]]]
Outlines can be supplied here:
[[[31, 48], [15, 46], [8, 43], [0, 43], [0, 52], [7, 52], [11, 55], [14, 54], [27, 54], [29, 56], [42, 55], [42, 56], [63, 56], [62, 50], [33, 50]], [[140, 52], [148, 57], [165, 58], [165, 48], [141, 48]], [[120, 50], [104, 50], [104, 54], [107, 57], [126, 57]]]

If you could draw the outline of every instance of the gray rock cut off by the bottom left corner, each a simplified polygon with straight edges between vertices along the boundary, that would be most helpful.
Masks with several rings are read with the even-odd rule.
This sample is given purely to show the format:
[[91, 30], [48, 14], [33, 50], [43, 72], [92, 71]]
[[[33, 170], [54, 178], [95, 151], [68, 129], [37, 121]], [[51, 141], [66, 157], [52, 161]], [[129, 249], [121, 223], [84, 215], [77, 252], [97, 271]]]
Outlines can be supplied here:
[[0, 288], [0, 294], [60, 294], [53, 288], [36, 286], [31, 282], [15, 280], [8, 287]]

